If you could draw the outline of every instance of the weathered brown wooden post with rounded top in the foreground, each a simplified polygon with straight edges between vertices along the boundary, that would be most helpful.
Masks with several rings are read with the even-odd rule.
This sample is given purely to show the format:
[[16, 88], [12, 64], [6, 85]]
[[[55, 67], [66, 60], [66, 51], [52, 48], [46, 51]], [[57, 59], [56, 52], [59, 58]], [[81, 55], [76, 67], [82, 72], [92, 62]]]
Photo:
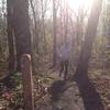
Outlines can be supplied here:
[[24, 54], [21, 58], [21, 70], [23, 78], [24, 110], [34, 110], [32, 65], [29, 54]]

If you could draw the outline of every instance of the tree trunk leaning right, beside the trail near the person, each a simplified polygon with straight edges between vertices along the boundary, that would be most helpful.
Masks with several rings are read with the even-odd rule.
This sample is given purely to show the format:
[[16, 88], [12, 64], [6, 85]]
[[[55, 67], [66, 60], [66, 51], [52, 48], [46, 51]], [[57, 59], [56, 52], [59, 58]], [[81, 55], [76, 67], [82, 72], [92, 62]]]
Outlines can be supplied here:
[[85, 76], [88, 72], [88, 64], [91, 55], [92, 43], [97, 33], [97, 25], [101, 12], [101, 3], [102, 0], [100, 0], [99, 2], [98, 0], [96, 0], [91, 9], [91, 14], [88, 20], [88, 28], [85, 36], [85, 42], [81, 47], [77, 70], [76, 70], [76, 76], [78, 77], [78, 79], [81, 78], [82, 80], [85, 80], [82, 76]]

